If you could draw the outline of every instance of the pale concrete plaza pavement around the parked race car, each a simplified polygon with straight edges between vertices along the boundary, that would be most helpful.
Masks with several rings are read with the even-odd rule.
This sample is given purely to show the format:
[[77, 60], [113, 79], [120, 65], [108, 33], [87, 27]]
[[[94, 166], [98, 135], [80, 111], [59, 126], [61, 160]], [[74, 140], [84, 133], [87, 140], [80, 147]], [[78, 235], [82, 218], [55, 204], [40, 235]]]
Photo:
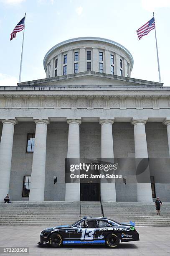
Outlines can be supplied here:
[[[1, 226], [0, 247], [29, 247], [29, 255], [170, 255], [170, 227], [137, 227], [140, 241], [121, 243], [119, 248], [105, 246], [39, 247], [39, 236], [44, 226]], [[1, 254], [13, 255], [13, 254]], [[17, 254], [19, 255], [19, 254]]]

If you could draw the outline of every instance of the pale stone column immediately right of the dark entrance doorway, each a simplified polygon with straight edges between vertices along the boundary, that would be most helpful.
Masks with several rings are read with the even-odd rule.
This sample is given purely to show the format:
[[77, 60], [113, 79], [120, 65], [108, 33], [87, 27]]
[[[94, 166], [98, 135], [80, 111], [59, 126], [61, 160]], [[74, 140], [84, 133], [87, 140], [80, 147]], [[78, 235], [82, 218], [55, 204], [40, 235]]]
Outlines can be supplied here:
[[[113, 120], [101, 120], [101, 159], [114, 162], [113, 153]], [[116, 201], [116, 188], [114, 183], [101, 183], [101, 200]]]

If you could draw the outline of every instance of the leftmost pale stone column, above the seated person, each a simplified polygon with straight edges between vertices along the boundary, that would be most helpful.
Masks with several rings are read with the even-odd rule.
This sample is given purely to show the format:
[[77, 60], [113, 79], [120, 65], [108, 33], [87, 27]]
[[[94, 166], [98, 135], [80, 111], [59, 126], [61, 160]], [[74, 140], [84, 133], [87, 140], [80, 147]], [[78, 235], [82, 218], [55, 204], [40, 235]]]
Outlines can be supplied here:
[[0, 201], [9, 192], [10, 185], [10, 169], [13, 151], [13, 135], [16, 120], [2, 120], [3, 131], [0, 141]]

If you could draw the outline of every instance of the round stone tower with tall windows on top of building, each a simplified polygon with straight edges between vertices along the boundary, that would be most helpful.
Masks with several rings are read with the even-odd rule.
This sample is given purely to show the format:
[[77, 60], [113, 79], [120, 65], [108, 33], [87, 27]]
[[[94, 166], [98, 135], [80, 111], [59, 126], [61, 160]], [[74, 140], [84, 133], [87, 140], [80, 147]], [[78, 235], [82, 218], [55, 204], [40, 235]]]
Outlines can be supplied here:
[[81, 76], [82, 72], [131, 77], [133, 57], [124, 46], [112, 40], [79, 37], [53, 46], [46, 53], [43, 65], [46, 78], [69, 74]]

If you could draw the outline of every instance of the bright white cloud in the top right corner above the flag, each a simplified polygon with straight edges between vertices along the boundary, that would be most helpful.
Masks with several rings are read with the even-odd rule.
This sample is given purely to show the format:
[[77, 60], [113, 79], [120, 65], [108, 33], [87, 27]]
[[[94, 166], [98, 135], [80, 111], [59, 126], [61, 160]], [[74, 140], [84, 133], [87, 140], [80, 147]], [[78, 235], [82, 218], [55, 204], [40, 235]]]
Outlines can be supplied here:
[[142, 0], [142, 6], [147, 11], [154, 11], [156, 8], [170, 7], [170, 0]]

